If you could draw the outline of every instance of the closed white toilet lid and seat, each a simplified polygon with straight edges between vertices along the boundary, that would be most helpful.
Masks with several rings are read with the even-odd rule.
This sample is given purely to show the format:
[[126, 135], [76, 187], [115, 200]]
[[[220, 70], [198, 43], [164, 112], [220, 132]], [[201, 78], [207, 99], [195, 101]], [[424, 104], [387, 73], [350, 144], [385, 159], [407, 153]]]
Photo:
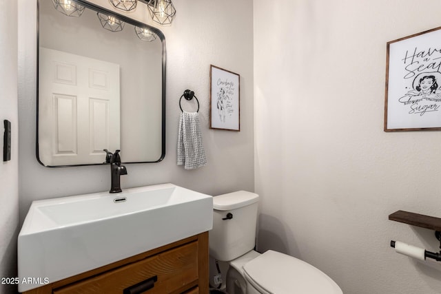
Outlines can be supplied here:
[[261, 293], [342, 294], [316, 267], [290, 255], [266, 251], [243, 266], [245, 278]]

